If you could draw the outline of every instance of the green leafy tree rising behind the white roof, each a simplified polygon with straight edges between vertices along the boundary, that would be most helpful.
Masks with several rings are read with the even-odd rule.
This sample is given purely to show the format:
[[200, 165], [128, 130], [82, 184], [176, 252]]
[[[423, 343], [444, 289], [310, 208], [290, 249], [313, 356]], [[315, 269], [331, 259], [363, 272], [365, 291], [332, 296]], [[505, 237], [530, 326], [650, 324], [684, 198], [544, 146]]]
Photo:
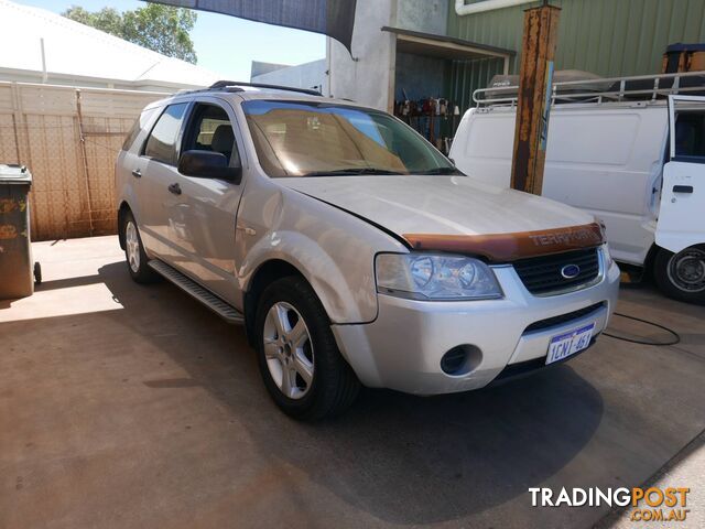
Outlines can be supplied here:
[[62, 15], [169, 57], [196, 64], [191, 31], [196, 24], [197, 14], [188, 9], [149, 3], [121, 13], [113, 8], [91, 12], [72, 6]]

